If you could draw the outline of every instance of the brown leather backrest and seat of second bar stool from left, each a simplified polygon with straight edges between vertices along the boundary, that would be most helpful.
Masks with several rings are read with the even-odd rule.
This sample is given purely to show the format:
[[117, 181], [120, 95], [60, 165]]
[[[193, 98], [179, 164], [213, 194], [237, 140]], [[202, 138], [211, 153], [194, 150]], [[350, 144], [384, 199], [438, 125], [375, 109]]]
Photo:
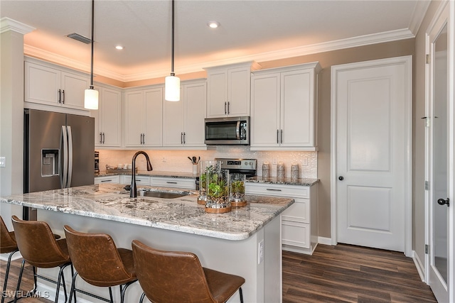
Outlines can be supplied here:
[[[70, 255], [55, 241], [54, 234], [44, 221], [24, 221], [12, 216], [16, 242], [22, 257], [38, 268], [55, 268], [70, 263]], [[65, 241], [65, 239], [60, 240]]]

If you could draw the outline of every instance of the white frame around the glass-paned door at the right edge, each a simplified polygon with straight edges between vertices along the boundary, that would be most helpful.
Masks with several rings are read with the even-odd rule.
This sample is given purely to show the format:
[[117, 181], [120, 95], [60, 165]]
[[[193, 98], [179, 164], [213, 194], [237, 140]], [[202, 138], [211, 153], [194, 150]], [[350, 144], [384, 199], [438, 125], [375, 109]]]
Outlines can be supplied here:
[[[450, 199], [451, 206], [448, 209], [449, 212], [449, 218], [448, 218], [448, 234], [447, 234], [447, 246], [448, 246], [448, 255], [447, 258], [449, 259], [449, 265], [448, 265], [448, 272], [447, 272], [447, 291], [449, 292], [449, 302], [454, 302], [455, 300], [455, 287], [451, 287], [451, 285], [454, 285], [454, 280], [455, 280], [455, 150], [454, 150], [454, 142], [455, 142], [455, 106], [454, 106], [454, 97], [455, 97], [455, 31], [453, 30], [455, 26], [455, 3], [454, 1], [442, 1], [441, 4], [439, 5], [437, 12], [434, 13], [434, 16], [432, 18], [431, 23], [429, 24], [427, 31], [425, 33], [425, 53], [429, 54], [432, 48], [432, 41], [430, 40], [430, 35], [432, 31], [438, 26], [440, 23], [440, 18], [442, 16], [442, 13], [444, 12], [444, 9], [446, 9], [448, 6], [449, 8], [449, 16], [447, 20], [447, 38], [448, 38], [448, 50], [447, 50], [447, 55], [448, 55], [448, 98], [449, 100], [449, 119], [447, 121], [448, 123], [448, 138], [449, 142], [447, 143], [449, 145], [449, 150], [448, 150], [448, 160], [449, 160], [449, 172], [451, 171], [452, 173], [449, 173], [449, 188], [448, 188], [448, 197]], [[431, 102], [432, 102], [432, 83], [430, 77], [432, 77], [432, 65], [427, 64], [425, 66], [425, 115], [429, 116], [428, 114], [431, 112]], [[432, 123], [430, 121], [429, 123]], [[431, 130], [429, 128], [426, 129], [425, 131], [425, 180], [430, 182], [431, 184], [431, 177], [432, 177], [432, 154], [430, 153], [430, 138], [429, 132]], [[432, 202], [432, 199], [430, 197], [430, 194], [432, 192], [430, 190], [425, 191], [425, 244], [431, 245], [430, 239], [431, 239], [431, 218], [432, 216], [432, 211], [430, 210], [430, 203]], [[431, 249], [431, 248], [430, 248]], [[425, 254], [425, 268], [424, 268], [424, 280], [427, 284], [429, 284], [429, 271], [430, 271], [430, 254], [427, 253]]]

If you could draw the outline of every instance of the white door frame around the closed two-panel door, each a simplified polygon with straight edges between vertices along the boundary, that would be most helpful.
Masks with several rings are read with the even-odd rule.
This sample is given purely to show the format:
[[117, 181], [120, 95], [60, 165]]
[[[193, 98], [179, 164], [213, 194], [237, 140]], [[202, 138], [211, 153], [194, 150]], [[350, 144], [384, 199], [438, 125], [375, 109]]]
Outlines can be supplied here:
[[412, 256], [412, 56], [392, 57], [379, 60], [369, 60], [363, 62], [354, 62], [343, 65], [333, 65], [331, 67], [331, 245], [338, 243], [337, 231], [337, 192], [338, 182], [336, 182], [336, 74], [342, 70], [358, 69], [363, 67], [375, 67], [390, 64], [403, 64], [407, 74], [406, 100], [405, 100], [405, 137], [406, 137], [406, 185], [405, 185], [405, 255]]

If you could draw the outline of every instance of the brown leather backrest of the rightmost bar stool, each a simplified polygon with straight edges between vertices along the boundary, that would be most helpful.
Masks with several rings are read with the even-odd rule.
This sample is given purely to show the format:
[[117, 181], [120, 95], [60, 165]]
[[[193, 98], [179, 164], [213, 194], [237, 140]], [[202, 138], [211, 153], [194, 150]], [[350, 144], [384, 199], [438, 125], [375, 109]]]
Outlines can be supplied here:
[[194, 253], [156, 250], [132, 241], [137, 279], [151, 302], [217, 302]]

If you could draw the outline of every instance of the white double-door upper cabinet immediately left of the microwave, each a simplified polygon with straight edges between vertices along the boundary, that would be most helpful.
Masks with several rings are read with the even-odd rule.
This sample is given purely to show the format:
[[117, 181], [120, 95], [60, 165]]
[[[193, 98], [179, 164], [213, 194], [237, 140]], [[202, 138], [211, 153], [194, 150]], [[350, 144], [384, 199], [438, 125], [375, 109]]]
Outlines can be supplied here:
[[181, 82], [180, 101], [164, 101], [165, 147], [206, 148], [204, 144], [205, 79]]

